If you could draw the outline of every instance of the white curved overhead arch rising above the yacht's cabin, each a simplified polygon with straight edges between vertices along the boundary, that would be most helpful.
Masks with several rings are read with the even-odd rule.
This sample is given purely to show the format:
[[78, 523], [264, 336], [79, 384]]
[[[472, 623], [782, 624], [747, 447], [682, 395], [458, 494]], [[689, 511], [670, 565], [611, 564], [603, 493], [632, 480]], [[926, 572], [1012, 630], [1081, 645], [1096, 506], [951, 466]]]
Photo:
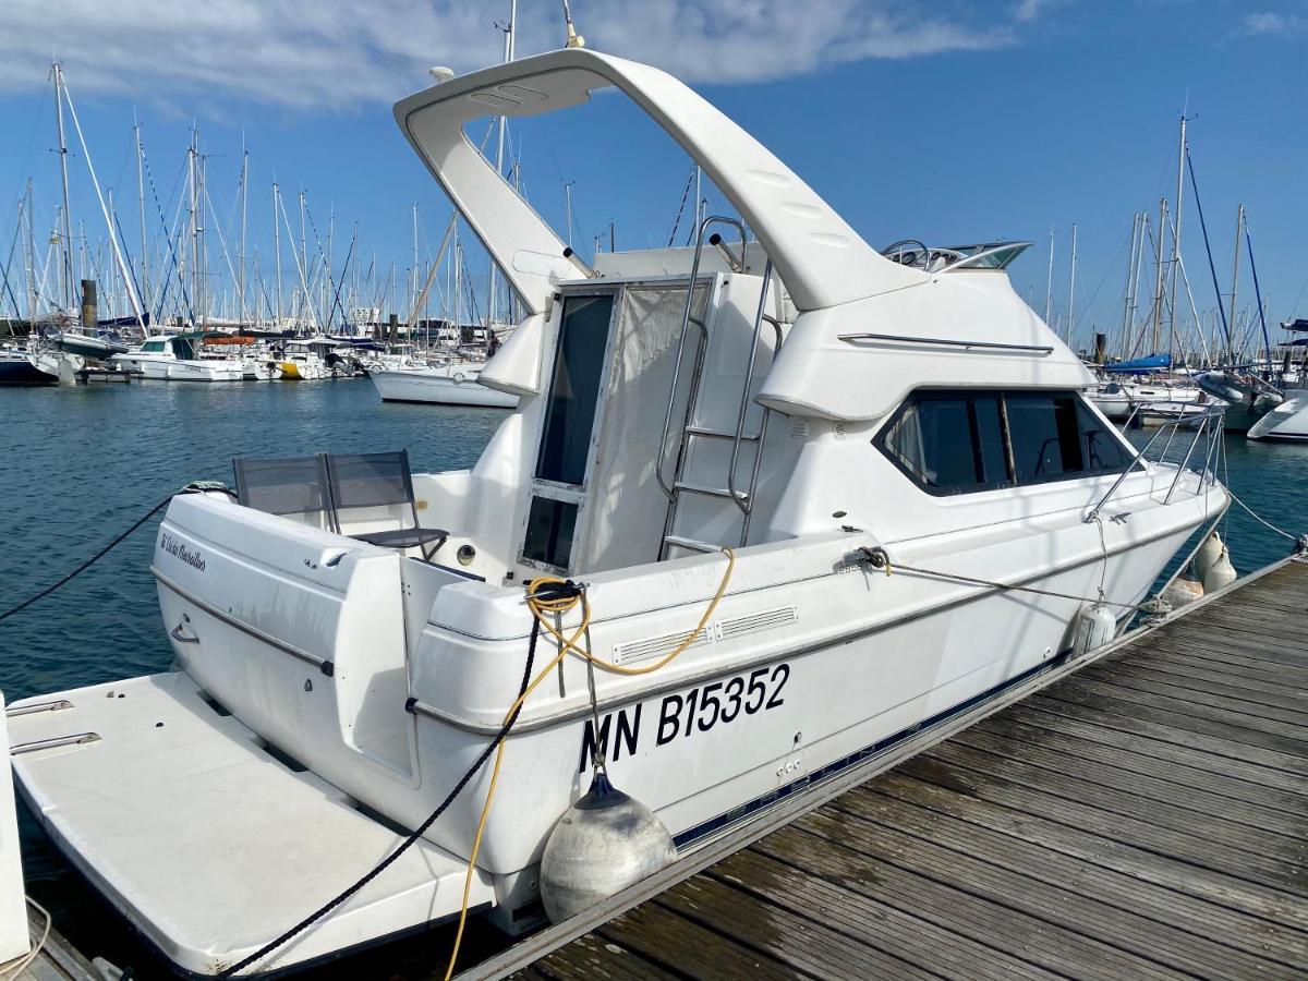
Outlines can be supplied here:
[[553, 281], [587, 271], [464, 135], [490, 114], [534, 116], [617, 88], [679, 143], [736, 207], [800, 310], [837, 306], [922, 281], [887, 263], [770, 150], [683, 82], [649, 65], [566, 48], [436, 85], [395, 106], [395, 119], [527, 305]]

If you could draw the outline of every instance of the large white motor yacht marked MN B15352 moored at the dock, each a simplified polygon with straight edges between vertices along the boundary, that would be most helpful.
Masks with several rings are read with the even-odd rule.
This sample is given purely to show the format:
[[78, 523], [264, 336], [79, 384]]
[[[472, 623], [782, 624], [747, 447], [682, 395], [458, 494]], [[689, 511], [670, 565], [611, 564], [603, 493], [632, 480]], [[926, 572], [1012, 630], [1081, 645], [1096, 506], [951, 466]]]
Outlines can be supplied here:
[[[606, 89], [735, 211], [693, 249], [590, 268], [466, 136]], [[268, 493], [177, 496], [174, 668], [9, 721], [33, 814], [184, 972], [464, 909], [528, 930], [602, 766], [693, 852], [1105, 641], [1227, 505], [1211, 430], [1146, 462], [1087, 402], [1008, 280], [1024, 243], [892, 260], [659, 69], [568, 48], [395, 116], [525, 311], [477, 379], [517, 409], [471, 470], [246, 462]]]

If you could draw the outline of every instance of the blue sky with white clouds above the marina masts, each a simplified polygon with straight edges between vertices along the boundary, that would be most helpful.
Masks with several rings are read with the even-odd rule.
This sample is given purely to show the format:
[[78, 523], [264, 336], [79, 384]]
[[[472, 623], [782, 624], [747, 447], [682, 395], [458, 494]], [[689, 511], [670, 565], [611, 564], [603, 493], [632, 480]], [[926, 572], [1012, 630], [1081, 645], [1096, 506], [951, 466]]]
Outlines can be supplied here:
[[[129, 247], [137, 241], [135, 110], [170, 217], [167, 199], [194, 119], [224, 225], [243, 135], [251, 241], [264, 256], [276, 173], [288, 211], [303, 188], [323, 235], [335, 211], [337, 267], [358, 221], [364, 260], [375, 254], [382, 267], [394, 262], [400, 279], [411, 263], [412, 204], [420, 204], [424, 251], [434, 247], [449, 212], [400, 137], [390, 102], [422, 88], [430, 64], [467, 71], [497, 60], [502, 34], [494, 21], [508, 16], [506, 1], [446, 0], [366, 8], [215, 0], [184, 13], [146, 0], [67, 0], [58, 16], [48, 7], [12, 0], [3, 14], [9, 30], [0, 33], [0, 260], [29, 175], [38, 226], [54, 220], [58, 164], [44, 89], [54, 54], [65, 64], [101, 182], [116, 190]], [[1222, 288], [1243, 201], [1273, 317], [1308, 315], [1308, 0], [901, 7], [576, 0], [573, 10], [593, 47], [685, 77], [875, 246], [903, 237], [1036, 239], [1012, 272], [1042, 310], [1053, 228], [1054, 307], [1065, 313], [1076, 222], [1076, 322], [1086, 331], [1120, 324], [1131, 215], [1156, 213], [1159, 196], [1175, 194], [1176, 123], [1189, 99], [1190, 146]], [[553, 3], [523, 0], [519, 54], [557, 44], [559, 20]], [[666, 245], [689, 162], [625, 102], [596, 99], [527, 123], [513, 137], [527, 195], [559, 228], [562, 183], [576, 182], [579, 251], [589, 251], [591, 235], [607, 234], [611, 220], [620, 249]], [[80, 150], [72, 170], [73, 212], [93, 239], [102, 237]], [[1203, 310], [1213, 306], [1213, 286], [1189, 187], [1185, 194], [1186, 268]], [[470, 266], [483, 262], [470, 249]], [[211, 266], [221, 264], [211, 242]], [[1241, 294], [1252, 300], [1247, 273]]]

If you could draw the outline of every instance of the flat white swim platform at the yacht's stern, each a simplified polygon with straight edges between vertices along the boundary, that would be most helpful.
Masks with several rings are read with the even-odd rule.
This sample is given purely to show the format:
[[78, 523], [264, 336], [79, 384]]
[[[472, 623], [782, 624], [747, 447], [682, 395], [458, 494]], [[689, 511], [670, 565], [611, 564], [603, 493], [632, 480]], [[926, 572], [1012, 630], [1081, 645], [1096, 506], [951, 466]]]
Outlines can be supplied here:
[[[402, 841], [336, 787], [271, 755], [184, 674], [82, 688], [68, 701], [10, 715], [14, 776], [51, 837], [184, 971], [215, 974], [252, 954]], [[98, 739], [69, 739], [86, 734]], [[419, 841], [254, 971], [456, 914], [464, 870]], [[489, 901], [475, 876], [471, 905]]]

